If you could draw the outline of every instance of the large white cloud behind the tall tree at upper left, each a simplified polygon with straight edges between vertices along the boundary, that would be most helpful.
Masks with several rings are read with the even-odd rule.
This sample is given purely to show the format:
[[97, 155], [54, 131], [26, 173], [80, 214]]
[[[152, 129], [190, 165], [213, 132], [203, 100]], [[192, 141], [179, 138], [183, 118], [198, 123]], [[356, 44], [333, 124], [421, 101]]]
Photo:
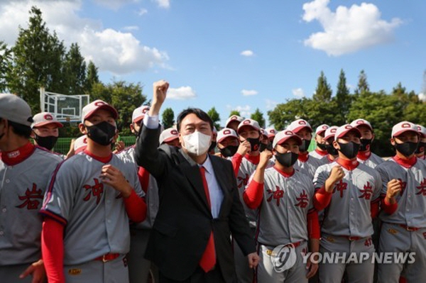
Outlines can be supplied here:
[[[116, 1], [118, 2], [120, 1]], [[0, 34], [2, 40], [9, 45], [13, 45], [18, 37], [18, 26], [27, 27], [31, 6], [37, 6], [42, 11], [43, 20], [50, 32], [55, 30], [66, 46], [78, 43], [85, 59], [92, 60], [101, 72], [126, 74], [143, 72], [155, 66], [167, 67], [166, 52], [143, 45], [130, 32], [105, 29], [102, 22], [81, 18], [78, 15], [82, 8], [80, 0], [23, 0], [0, 3]]]

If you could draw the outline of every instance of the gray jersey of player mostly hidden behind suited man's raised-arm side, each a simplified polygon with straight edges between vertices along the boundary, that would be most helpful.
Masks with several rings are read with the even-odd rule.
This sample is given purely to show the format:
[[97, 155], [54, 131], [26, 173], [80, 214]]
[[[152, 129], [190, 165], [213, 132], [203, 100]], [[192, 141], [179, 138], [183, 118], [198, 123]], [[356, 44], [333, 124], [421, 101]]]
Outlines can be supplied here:
[[[121, 160], [130, 160], [138, 168], [134, 157], [135, 145], [125, 148], [117, 154]], [[141, 223], [132, 223], [132, 227], [137, 229], [151, 229], [153, 227], [155, 216], [157, 216], [160, 200], [158, 199], [158, 186], [155, 178], [149, 174], [148, 188], [146, 189], [146, 219]]]

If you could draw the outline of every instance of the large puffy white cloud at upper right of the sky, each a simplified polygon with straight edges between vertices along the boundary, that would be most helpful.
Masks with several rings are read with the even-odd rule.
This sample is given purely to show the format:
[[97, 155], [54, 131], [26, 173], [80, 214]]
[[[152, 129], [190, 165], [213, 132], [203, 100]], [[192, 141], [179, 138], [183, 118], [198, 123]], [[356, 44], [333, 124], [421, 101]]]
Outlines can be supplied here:
[[338, 6], [336, 12], [328, 8], [329, 0], [314, 0], [303, 4], [303, 20], [319, 21], [324, 31], [313, 33], [305, 46], [323, 50], [327, 55], [339, 56], [374, 45], [393, 41], [393, 30], [403, 23], [399, 18], [390, 22], [381, 19], [381, 11], [374, 4], [362, 3], [350, 8]]

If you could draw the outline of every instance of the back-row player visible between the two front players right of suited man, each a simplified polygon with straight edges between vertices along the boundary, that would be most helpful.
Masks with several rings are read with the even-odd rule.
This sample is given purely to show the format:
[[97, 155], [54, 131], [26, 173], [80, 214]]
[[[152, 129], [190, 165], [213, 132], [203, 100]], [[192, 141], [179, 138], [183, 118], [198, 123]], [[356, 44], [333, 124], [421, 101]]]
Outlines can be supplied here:
[[322, 162], [316, 158], [310, 157], [309, 152], [307, 152], [312, 140], [312, 128], [310, 124], [303, 119], [298, 119], [290, 123], [287, 129], [299, 135], [302, 139], [295, 169], [307, 172], [310, 179], [314, 179], [315, 170], [322, 165]]

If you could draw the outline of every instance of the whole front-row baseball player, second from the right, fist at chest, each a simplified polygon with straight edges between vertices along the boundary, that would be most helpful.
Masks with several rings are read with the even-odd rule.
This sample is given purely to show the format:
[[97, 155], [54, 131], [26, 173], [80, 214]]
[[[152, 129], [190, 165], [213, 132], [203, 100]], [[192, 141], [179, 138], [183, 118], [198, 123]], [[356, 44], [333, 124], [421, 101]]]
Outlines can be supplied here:
[[[339, 157], [315, 172], [314, 205], [325, 208], [320, 252], [343, 255], [334, 262], [320, 262], [320, 282], [340, 283], [344, 272], [349, 283], [373, 282], [371, 218], [378, 213], [382, 183], [376, 170], [356, 160], [360, 138], [359, 130], [349, 124], [337, 128], [333, 145]], [[361, 253], [368, 258], [361, 258]], [[349, 260], [352, 255], [356, 261]]]

